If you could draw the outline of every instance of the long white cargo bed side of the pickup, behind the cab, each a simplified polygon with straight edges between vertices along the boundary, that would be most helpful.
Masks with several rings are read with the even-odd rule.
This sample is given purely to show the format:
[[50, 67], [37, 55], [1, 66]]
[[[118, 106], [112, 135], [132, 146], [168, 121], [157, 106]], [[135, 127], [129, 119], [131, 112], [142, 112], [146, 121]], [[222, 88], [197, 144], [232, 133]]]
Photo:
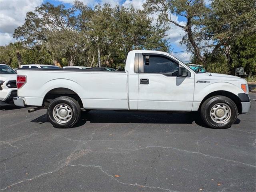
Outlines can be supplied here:
[[27, 76], [18, 95], [30, 105], [41, 106], [49, 91], [65, 87], [76, 92], [88, 109], [128, 109], [126, 72], [42, 68], [19, 68], [17, 72]]

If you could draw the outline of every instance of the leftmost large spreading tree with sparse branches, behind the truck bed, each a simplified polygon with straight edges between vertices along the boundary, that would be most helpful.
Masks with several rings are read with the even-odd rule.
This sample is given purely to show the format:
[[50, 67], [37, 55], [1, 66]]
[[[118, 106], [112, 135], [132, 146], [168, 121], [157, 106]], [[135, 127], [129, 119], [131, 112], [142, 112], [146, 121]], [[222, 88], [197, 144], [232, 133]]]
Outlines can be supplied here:
[[54, 6], [49, 2], [37, 7], [35, 12], [28, 12], [25, 23], [14, 31], [14, 38], [27, 46], [46, 48], [55, 65], [59, 65], [63, 57], [68, 58], [69, 65], [74, 64], [78, 36], [74, 8], [66, 9], [63, 4]]

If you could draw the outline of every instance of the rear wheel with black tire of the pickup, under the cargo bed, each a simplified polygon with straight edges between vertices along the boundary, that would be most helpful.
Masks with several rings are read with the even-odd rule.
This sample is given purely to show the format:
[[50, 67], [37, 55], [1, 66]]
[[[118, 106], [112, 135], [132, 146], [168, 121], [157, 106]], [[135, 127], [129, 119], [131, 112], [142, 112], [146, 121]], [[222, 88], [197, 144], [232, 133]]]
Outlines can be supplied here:
[[[62, 110], [64, 115], [68, 114], [64, 117], [64, 119], [62, 119], [61, 112], [58, 112], [58, 114], [56, 112], [59, 107], [61, 107], [60, 109]], [[58, 97], [52, 100], [52, 102], [50, 102], [47, 109], [48, 120], [54, 127], [57, 127], [57, 128], [73, 127], [80, 119], [80, 116], [81, 116], [80, 105], [74, 98], [67, 97], [67, 96]]]

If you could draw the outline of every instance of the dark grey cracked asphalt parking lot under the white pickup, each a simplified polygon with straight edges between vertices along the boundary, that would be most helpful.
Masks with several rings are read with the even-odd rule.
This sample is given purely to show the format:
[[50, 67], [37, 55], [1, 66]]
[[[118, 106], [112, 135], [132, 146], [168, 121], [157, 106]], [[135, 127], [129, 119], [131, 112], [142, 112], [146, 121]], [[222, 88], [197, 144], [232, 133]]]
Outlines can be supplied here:
[[0, 111], [3, 191], [255, 191], [256, 94], [228, 129], [197, 113], [92, 110], [54, 128], [46, 110]]

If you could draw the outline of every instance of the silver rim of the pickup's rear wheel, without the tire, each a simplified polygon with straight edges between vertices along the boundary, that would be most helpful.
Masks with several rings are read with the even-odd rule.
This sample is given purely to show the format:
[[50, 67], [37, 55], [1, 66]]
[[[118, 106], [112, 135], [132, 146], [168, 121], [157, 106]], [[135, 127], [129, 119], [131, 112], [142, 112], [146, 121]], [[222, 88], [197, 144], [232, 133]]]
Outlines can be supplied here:
[[66, 123], [70, 121], [73, 116], [73, 112], [70, 106], [64, 103], [56, 105], [52, 114], [54, 119], [60, 123]]

